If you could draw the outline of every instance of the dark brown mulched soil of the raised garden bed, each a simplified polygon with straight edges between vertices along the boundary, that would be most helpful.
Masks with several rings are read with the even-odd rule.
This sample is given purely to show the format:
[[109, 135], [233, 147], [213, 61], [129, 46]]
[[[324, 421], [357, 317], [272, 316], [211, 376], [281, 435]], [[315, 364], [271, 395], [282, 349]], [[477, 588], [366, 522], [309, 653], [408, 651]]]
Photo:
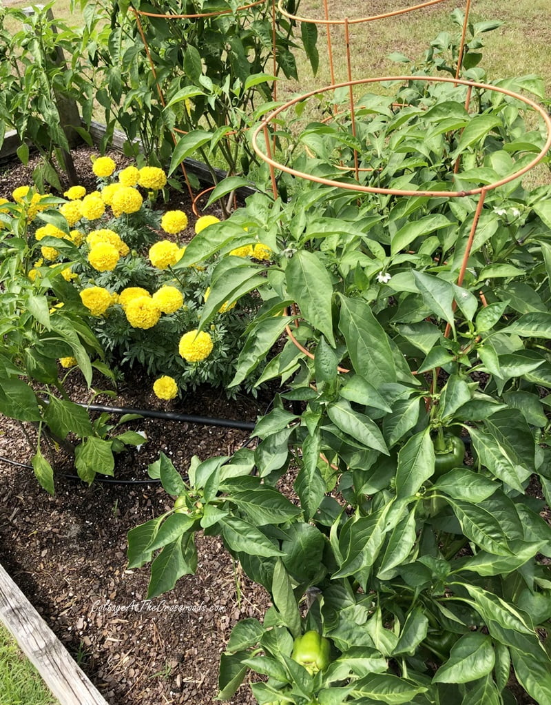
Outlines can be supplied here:
[[[80, 183], [94, 190], [89, 154], [87, 148], [76, 149], [75, 165]], [[120, 154], [111, 156], [119, 167], [127, 163]], [[32, 183], [31, 174], [32, 164], [5, 168], [0, 196]], [[187, 194], [174, 193], [171, 207], [184, 209], [193, 224]], [[71, 398], [91, 399], [80, 372], [75, 369], [71, 378]], [[104, 378], [94, 384], [96, 391], [109, 388]], [[270, 400], [266, 393], [258, 400], [228, 401], [223, 392], [205, 388], [162, 402], [150, 389], [151, 381], [133, 371], [116, 398], [99, 396], [94, 403], [254, 422]], [[124, 428], [144, 431], [148, 439], [140, 450], [118, 457], [115, 475], [126, 481], [149, 479], [147, 466], [161, 450], [185, 473], [192, 455], [230, 454], [249, 439], [245, 431], [162, 419], [141, 419]], [[126, 534], [171, 508], [172, 498], [159, 484], [88, 487], [63, 477], [75, 472], [68, 456], [42, 448], [56, 466], [51, 497], [27, 467], [35, 439], [31, 424], [0, 417], [0, 563], [111, 705], [214, 702], [218, 658], [230, 630], [237, 620], [264, 615], [269, 606], [264, 589], [233, 565], [221, 541], [201, 537], [197, 575], [146, 602], [149, 568], [126, 570]], [[254, 698], [244, 687], [232, 702], [252, 704]]]

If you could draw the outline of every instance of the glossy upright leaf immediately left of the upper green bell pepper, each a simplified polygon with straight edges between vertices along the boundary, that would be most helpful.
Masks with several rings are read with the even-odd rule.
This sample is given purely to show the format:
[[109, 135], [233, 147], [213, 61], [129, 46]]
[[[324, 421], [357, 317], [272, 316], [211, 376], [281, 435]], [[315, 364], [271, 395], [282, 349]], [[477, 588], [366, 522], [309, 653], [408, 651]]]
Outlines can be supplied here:
[[407, 501], [434, 474], [434, 446], [430, 429], [411, 436], [398, 453], [396, 496]]

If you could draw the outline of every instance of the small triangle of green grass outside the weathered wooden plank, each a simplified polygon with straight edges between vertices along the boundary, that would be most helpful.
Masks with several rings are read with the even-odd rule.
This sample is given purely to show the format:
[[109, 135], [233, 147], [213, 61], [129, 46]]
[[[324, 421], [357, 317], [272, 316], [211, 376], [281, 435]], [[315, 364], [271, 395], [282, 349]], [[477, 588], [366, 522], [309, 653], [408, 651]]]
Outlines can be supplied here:
[[15, 639], [0, 623], [1, 705], [56, 705], [35, 667], [18, 649]]

